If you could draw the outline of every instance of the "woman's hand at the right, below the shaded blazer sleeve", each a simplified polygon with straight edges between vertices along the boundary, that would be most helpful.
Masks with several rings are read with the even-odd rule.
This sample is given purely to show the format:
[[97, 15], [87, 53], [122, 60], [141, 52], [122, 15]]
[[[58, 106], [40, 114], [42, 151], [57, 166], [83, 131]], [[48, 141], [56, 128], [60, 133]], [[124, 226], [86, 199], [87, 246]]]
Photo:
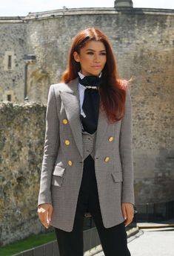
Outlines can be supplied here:
[[125, 220], [124, 225], [127, 226], [133, 221], [133, 216], [134, 216], [133, 204], [131, 204], [130, 202], [122, 202], [121, 210]]

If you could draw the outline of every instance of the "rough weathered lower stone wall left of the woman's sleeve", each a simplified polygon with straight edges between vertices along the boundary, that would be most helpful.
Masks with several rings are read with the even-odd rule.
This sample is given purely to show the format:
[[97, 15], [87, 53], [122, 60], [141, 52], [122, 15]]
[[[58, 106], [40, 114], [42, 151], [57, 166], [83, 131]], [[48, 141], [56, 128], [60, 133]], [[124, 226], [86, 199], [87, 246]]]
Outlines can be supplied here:
[[44, 231], [37, 214], [45, 106], [0, 104], [0, 244]]

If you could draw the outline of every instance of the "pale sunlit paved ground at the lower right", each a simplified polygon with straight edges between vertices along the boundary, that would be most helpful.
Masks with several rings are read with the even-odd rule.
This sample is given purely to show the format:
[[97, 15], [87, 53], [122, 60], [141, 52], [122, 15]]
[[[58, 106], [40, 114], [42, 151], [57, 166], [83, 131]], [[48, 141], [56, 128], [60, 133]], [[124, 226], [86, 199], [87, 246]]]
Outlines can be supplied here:
[[[156, 228], [140, 229], [137, 234], [128, 238], [131, 256], [174, 256], [173, 227], [157, 228], [159, 223], [141, 223], [140, 225], [156, 226]], [[100, 252], [96, 256], [104, 256], [104, 253]]]

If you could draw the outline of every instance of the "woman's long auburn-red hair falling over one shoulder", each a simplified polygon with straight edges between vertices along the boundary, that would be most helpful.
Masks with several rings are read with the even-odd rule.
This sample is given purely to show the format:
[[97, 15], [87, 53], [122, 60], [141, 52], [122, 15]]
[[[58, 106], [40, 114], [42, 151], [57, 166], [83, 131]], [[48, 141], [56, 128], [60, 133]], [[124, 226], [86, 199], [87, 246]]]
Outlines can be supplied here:
[[74, 60], [73, 52], [77, 51], [80, 54], [80, 49], [90, 40], [103, 42], [107, 51], [107, 63], [102, 70], [102, 84], [99, 87], [100, 109], [105, 112], [107, 120], [114, 123], [124, 116], [126, 89], [129, 81], [119, 79], [113, 49], [104, 33], [97, 28], [87, 28], [76, 34], [70, 48], [67, 70], [62, 74], [61, 82], [69, 83], [78, 77], [81, 65]]

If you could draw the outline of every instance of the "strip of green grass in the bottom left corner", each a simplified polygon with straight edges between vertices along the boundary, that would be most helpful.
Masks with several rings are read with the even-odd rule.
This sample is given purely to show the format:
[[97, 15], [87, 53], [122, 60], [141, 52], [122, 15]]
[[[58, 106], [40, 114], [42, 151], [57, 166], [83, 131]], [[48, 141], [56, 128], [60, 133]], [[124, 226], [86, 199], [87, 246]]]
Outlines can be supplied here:
[[11, 256], [19, 252], [23, 252], [33, 247], [40, 246], [44, 243], [56, 240], [55, 232], [48, 234], [36, 234], [30, 237], [20, 240], [19, 242], [11, 243], [10, 245], [3, 246], [0, 248], [0, 256]]

